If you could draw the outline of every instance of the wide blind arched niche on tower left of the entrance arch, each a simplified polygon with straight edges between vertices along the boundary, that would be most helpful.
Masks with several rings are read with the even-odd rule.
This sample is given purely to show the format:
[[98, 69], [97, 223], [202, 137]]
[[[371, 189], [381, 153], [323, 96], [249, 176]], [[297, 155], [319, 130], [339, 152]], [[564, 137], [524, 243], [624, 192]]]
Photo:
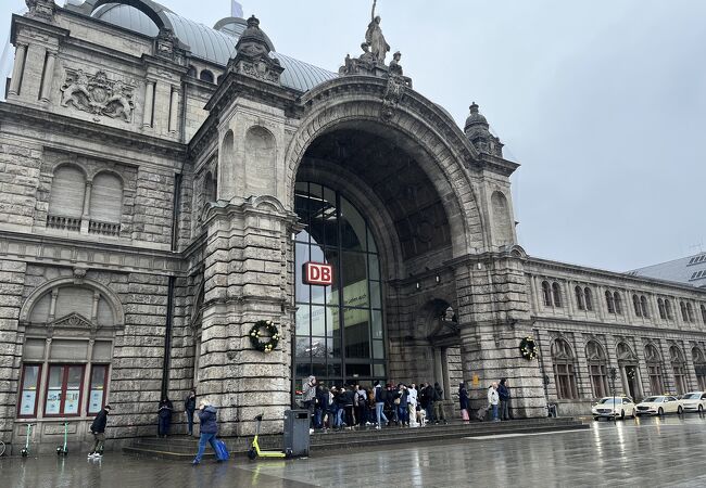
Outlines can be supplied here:
[[277, 142], [262, 126], [245, 132], [245, 164], [243, 179], [245, 196], [274, 195], [277, 189]]

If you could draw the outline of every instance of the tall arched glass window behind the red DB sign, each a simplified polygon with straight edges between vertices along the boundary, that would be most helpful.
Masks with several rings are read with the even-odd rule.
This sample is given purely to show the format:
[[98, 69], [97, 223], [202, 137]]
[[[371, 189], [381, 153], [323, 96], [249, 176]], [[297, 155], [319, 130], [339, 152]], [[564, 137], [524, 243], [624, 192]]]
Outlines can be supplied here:
[[[367, 220], [339, 192], [316, 183], [298, 182], [294, 205], [305, 226], [295, 236], [294, 377], [386, 380], [380, 262]], [[332, 285], [304, 282], [310, 261], [332, 267]]]

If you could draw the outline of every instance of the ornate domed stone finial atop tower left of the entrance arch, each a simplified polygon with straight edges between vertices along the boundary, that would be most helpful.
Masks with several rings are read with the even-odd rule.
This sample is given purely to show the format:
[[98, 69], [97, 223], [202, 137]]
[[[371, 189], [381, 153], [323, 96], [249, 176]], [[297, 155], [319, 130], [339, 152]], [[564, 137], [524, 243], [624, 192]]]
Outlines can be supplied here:
[[248, 20], [248, 28], [236, 46], [238, 54], [228, 63], [228, 69], [274, 85], [280, 85], [285, 70], [279, 61], [269, 56], [267, 37], [260, 28], [260, 21], [253, 15]]

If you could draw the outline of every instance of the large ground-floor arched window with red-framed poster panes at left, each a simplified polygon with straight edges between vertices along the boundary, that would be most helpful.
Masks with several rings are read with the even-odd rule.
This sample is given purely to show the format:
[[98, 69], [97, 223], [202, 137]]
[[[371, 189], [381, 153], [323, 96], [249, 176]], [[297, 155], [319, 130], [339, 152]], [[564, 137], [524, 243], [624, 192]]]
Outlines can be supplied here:
[[102, 285], [63, 279], [30, 296], [20, 320], [26, 335], [17, 415], [92, 418], [108, 402], [119, 303]]

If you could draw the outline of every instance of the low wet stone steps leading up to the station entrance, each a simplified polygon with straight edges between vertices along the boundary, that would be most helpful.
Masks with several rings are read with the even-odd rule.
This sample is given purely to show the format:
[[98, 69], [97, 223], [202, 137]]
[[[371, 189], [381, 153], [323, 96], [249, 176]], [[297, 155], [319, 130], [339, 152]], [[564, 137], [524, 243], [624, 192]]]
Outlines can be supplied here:
[[[573, 418], [528, 419], [508, 422], [477, 422], [463, 424], [459, 422], [449, 425], [429, 425], [426, 427], [386, 427], [315, 433], [311, 436], [311, 452], [320, 455], [348, 449], [371, 448], [387, 445], [408, 446], [409, 442], [433, 442], [439, 440], [459, 439], [464, 437], [492, 436], [503, 434], [530, 434], [568, 429], [589, 428], [589, 424]], [[224, 439], [228, 449], [235, 455], [244, 454], [252, 437]], [[126, 453], [172, 460], [193, 459], [198, 450], [198, 439], [193, 437], [175, 436], [168, 439], [140, 438], [123, 450]], [[281, 436], [261, 436], [261, 448], [280, 450]], [[206, 449], [205, 459], [213, 459], [211, 448]]]

